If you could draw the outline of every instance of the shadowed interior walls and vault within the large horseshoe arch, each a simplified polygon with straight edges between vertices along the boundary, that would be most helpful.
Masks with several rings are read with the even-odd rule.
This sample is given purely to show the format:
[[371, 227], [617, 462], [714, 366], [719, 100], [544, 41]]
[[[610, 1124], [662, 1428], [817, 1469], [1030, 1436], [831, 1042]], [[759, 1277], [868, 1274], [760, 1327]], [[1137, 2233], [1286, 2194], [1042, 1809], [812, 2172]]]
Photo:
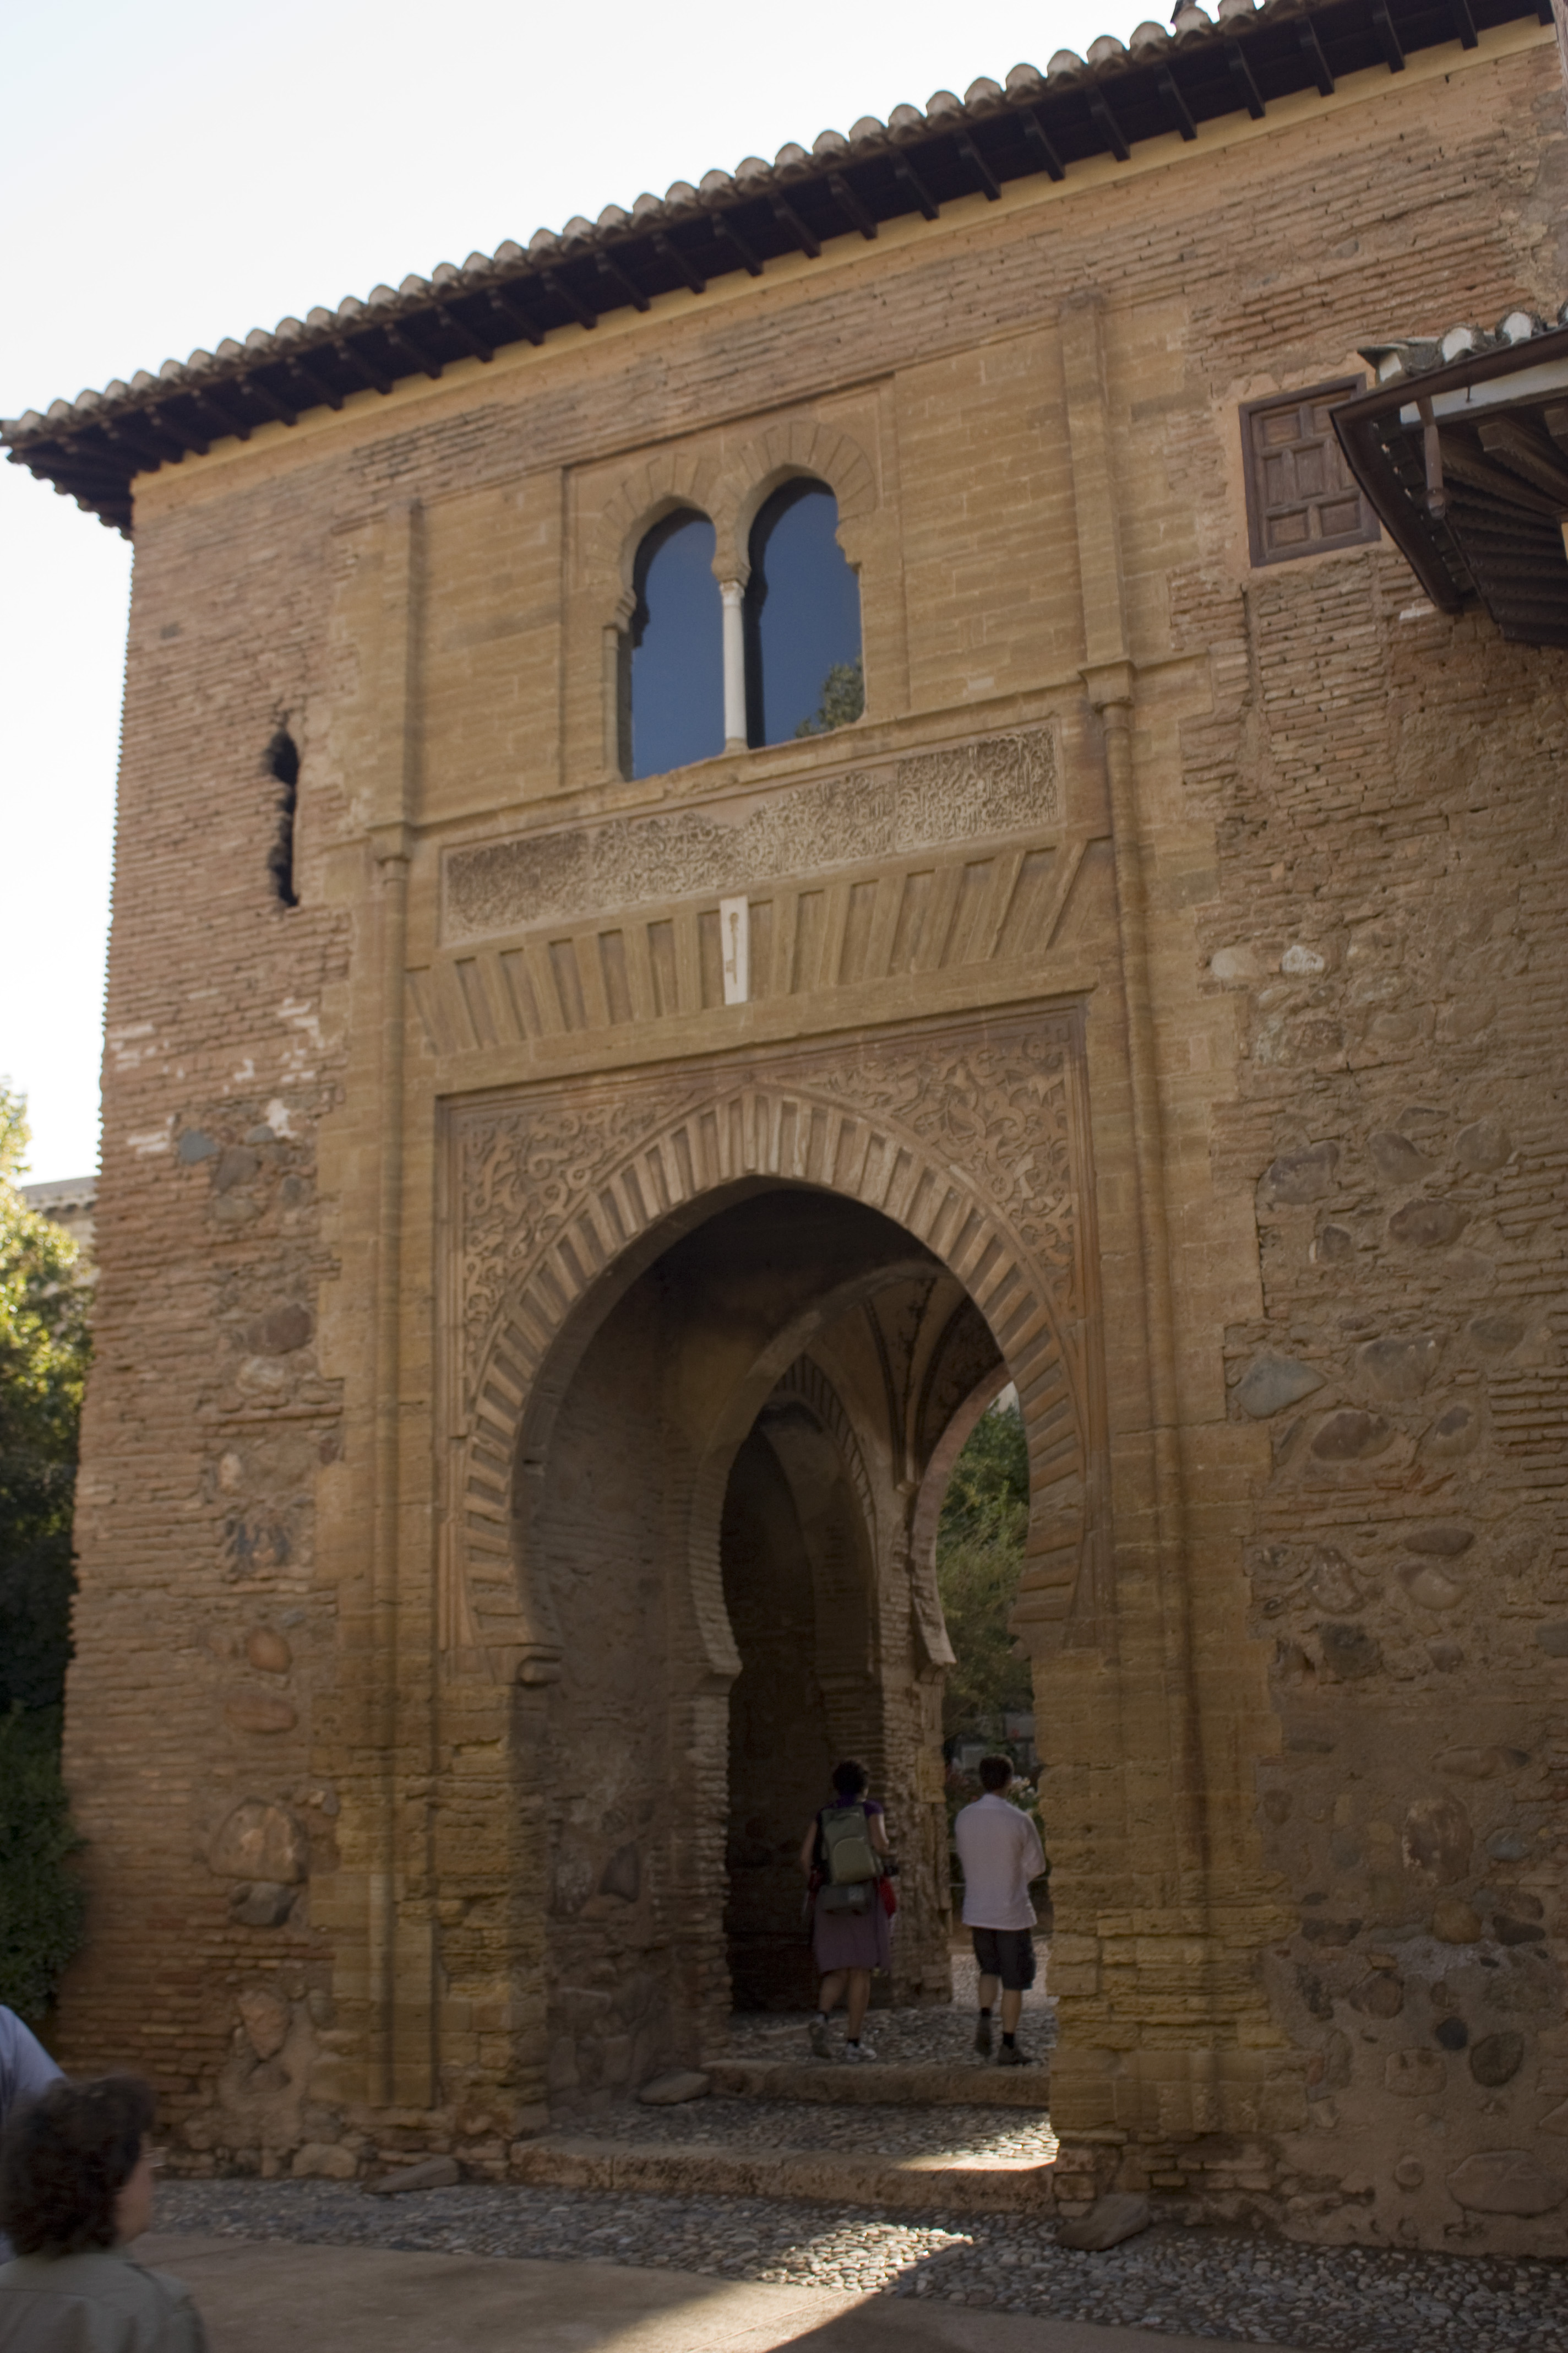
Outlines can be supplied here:
[[733, 2002], [802, 2005], [795, 1854], [844, 1753], [905, 1866], [893, 1991], [947, 1993], [947, 1654], [910, 1504], [936, 1358], [983, 1329], [891, 1219], [755, 1186], [583, 1351], [527, 1541], [559, 1633], [541, 1802], [562, 2106], [635, 2080], [661, 2038], [696, 2057]]

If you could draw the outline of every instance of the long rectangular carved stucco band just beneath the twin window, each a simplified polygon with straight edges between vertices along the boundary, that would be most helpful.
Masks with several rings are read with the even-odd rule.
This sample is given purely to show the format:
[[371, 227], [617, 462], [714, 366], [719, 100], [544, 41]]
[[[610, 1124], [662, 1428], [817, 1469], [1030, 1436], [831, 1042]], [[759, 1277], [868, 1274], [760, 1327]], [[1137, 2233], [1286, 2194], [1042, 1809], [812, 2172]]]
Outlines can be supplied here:
[[1051, 729], [980, 736], [766, 798], [449, 849], [442, 936], [484, 939], [531, 922], [729, 896], [867, 859], [1027, 833], [1058, 814]]

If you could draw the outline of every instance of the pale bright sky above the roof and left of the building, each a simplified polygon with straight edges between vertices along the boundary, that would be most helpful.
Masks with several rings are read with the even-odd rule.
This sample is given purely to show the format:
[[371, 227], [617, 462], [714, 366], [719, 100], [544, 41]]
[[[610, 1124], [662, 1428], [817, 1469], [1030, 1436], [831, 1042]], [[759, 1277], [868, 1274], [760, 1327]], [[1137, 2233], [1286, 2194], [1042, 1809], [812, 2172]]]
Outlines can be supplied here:
[[[527, 245], [574, 212], [1004, 80], [1112, 0], [75, 0], [7, 19], [0, 416]], [[99, 1045], [132, 551], [0, 466], [0, 1078], [33, 1179], [99, 1155]]]

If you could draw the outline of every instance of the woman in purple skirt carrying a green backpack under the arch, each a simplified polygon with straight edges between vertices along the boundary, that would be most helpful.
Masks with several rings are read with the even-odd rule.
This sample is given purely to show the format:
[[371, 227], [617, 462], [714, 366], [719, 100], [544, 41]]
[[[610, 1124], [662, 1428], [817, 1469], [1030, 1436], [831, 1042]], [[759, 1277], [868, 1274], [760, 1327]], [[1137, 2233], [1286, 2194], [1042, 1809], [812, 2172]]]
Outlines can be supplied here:
[[886, 1969], [893, 1958], [891, 1847], [882, 1805], [867, 1798], [865, 1765], [846, 1758], [832, 1769], [837, 1798], [825, 1805], [806, 1831], [799, 1866], [811, 1889], [811, 1953], [823, 1979], [811, 2054], [832, 2059], [827, 2019], [846, 2000], [846, 2059], [875, 2059], [860, 2040], [865, 2005], [872, 1998], [872, 1969]]

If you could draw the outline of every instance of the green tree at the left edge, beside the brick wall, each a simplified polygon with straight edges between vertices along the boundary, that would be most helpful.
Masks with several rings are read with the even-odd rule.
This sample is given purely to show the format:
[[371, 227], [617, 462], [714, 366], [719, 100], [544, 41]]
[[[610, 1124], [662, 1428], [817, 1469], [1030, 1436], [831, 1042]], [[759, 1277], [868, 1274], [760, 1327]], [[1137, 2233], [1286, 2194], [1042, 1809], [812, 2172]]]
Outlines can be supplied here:
[[26, 1099], [0, 1085], [0, 2002], [38, 2017], [82, 1934], [59, 1744], [89, 1294], [16, 1188], [26, 1151]]

